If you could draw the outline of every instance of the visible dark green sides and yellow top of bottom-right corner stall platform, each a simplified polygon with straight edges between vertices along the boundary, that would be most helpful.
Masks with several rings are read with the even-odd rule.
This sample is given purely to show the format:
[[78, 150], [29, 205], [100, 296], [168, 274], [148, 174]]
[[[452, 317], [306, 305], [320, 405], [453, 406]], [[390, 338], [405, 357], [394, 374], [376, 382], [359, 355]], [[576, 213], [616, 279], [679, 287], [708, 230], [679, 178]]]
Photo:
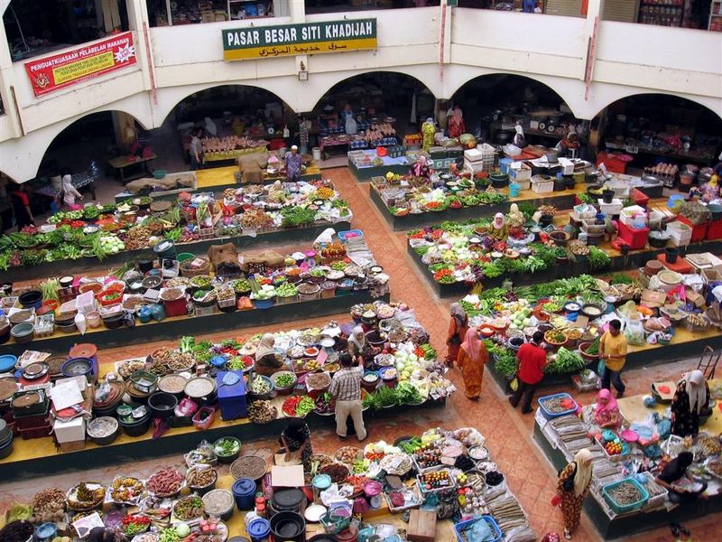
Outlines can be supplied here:
[[[649, 414], [649, 409], [643, 406], [643, 396], [620, 399], [619, 407], [627, 419], [634, 419], [634, 412], [639, 409], [644, 410], [643, 416]], [[662, 406], [658, 408], [663, 409]], [[715, 409], [715, 415], [703, 427], [715, 435], [722, 430], [722, 418], [717, 409]], [[565, 457], [559, 445], [555, 443], [551, 428], [547, 424], [540, 425], [539, 416], [534, 424], [533, 435], [534, 441], [542, 449], [542, 452], [547, 456], [554, 468], [557, 470], [563, 469], [569, 458]], [[669, 511], [662, 506], [656, 509], [643, 509], [643, 513], [630, 512], [616, 515], [608, 509], [606, 503], [597, 500], [596, 494], [591, 492], [584, 501], [584, 510], [605, 539], [631, 537], [643, 530], [666, 527], [671, 521], [685, 522], [708, 514], [719, 513], [722, 511], [722, 496], [717, 495], [709, 499], [698, 499]]]

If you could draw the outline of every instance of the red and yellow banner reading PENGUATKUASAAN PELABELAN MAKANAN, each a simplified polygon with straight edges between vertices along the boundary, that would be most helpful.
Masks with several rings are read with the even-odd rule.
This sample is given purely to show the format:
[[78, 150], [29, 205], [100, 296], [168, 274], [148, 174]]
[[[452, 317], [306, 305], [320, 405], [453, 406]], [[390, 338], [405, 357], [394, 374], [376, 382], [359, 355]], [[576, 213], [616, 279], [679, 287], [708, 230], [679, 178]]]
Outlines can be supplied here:
[[135, 63], [133, 33], [126, 32], [79, 49], [25, 62], [25, 71], [35, 96], [42, 96]]

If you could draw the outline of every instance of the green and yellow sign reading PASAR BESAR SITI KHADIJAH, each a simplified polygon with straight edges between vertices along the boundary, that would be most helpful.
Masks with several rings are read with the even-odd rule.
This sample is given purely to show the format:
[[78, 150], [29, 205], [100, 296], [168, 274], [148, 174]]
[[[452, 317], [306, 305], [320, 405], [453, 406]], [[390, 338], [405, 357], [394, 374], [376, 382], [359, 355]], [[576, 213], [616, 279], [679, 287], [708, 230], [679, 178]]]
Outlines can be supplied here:
[[376, 49], [376, 20], [279, 24], [223, 30], [223, 59], [244, 61]]

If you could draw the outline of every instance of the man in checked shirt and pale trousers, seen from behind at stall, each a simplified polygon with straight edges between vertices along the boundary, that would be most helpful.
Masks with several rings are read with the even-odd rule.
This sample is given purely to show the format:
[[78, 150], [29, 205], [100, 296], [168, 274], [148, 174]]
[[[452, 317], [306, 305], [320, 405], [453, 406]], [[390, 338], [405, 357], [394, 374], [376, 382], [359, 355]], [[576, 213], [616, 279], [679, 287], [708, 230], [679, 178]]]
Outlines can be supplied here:
[[364, 406], [361, 403], [361, 377], [364, 369], [356, 365], [347, 353], [340, 356], [341, 369], [331, 379], [330, 394], [336, 399], [336, 434], [346, 440], [347, 419], [354, 420], [354, 431], [359, 442], [366, 440]]

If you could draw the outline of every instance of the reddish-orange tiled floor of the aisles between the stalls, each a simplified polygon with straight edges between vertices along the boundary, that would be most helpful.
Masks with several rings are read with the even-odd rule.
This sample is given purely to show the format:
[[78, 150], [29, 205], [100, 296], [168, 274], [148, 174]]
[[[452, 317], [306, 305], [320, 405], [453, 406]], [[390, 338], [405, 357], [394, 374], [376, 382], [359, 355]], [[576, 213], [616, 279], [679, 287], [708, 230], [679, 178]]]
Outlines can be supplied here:
[[[379, 264], [384, 266], [384, 270], [392, 277], [393, 299], [401, 300], [412, 306], [420, 322], [430, 332], [433, 346], [443, 353], [445, 351], [444, 338], [449, 322], [448, 302], [440, 301], [434, 296], [430, 286], [427, 285], [410, 257], [407, 256], [403, 233], [394, 233], [388, 228], [385, 220], [379, 215], [379, 211], [369, 201], [366, 184], [357, 183], [345, 168], [326, 170], [325, 173], [336, 182], [347, 201], [351, 202], [354, 210], [353, 226], [364, 230]], [[344, 317], [345, 315], [338, 315], [338, 319]], [[329, 319], [331, 318], [315, 318], [304, 322], [278, 324], [270, 327], [273, 330], [288, 329], [303, 324], [327, 322]], [[266, 326], [264, 329], [269, 328]], [[239, 334], [247, 337], [258, 331], [260, 328], [244, 330]], [[210, 337], [213, 336], [225, 337], [227, 333], [217, 333]], [[144, 355], [160, 344], [104, 350], [101, 352], [101, 362]], [[696, 355], [697, 352], [690, 352], [690, 356]], [[690, 369], [694, 363], [696, 363], [696, 359], [666, 364], [653, 369], [629, 371], [625, 375], [625, 382], [628, 386], [627, 393], [628, 395], [644, 393], [651, 381], [677, 378], [680, 372]], [[456, 370], [451, 371], [450, 378], [458, 387], [463, 386]], [[561, 388], [569, 389], [569, 387]], [[592, 394], [580, 394], [577, 397], [582, 402], [589, 402]], [[449, 428], [465, 425], [477, 427], [486, 436], [486, 442], [494, 454], [495, 461], [506, 474], [511, 489], [521, 500], [523, 509], [529, 515], [532, 527], [540, 539], [551, 530], [561, 532], [560, 510], [553, 509], [550, 505], [556, 487], [556, 472], [532, 440], [533, 418], [531, 415], [522, 416], [518, 410], [512, 409], [492, 378], [487, 376], [485, 379], [482, 397], [478, 402], [470, 402], [462, 393], [457, 393], [449, 399], [443, 410], [433, 409], [422, 413], [413, 413], [409, 418], [378, 423], [369, 427], [369, 438], [393, 441], [400, 435], [419, 434], [425, 428], [437, 425]], [[315, 433], [312, 442], [315, 450], [324, 453], [332, 453], [339, 446], [337, 437], [331, 431]], [[270, 441], [248, 443], [245, 444], [244, 450], [245, 453], [264, 453], [270, 457], [273, 446], [274, 443]], [[107, 480], [112, 477], [114, 472], [121, 469], [123, 472], [143, 474], [152, 471], [157, 464], [177, 463], [180, 465], [180, 461], [180, 456], [171, 456], [148, 462], [112, 465], [106, 469], [85, 472], [83, 477]], [[49, 472], [48, 476], [42, 479], [0, 484], [0, 491], [3, 493], [3, 499], [0, 500], [0, 513], [3, 513], [14, 500], [29, 500], [35, 491], [43, 487], [49, 485], [68, 487], [71, 482], [77, 480], [77, 474], [56, 476]], [[718, 516], [698, 519], [687, 525], [693, 531], [694, 539], [697, 541], [720, 539], [718, 526]], [[574, 539], [596, 541], [602, 538], [598, 536], [588, 519], [583, 518], [579, 532]], [[628, 539], [631, 540], [632, 537]], [[666, 528], [655, 529], [634, 537], [635, 542], [667, 540], [674, 540], [674, 538]]]

